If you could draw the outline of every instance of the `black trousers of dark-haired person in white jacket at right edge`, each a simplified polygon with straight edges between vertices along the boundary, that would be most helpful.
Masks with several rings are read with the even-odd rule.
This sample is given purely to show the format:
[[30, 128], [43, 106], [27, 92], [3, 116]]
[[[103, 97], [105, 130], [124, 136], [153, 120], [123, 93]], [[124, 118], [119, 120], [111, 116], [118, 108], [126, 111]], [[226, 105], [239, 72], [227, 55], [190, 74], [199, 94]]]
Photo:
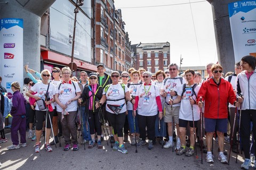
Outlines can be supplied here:
[[[244, 156], [250, 159], [250, 135], [251, 135], [251, 121], [252, 121], [252, 140], [256, 141], [256, 110], [242, 110], [241, 115], [241, 127], [240, 134], [242, 140], [242, 146], [244, 150]], [[256, 145], [254, 145], [254, 153], [256, 151]]]

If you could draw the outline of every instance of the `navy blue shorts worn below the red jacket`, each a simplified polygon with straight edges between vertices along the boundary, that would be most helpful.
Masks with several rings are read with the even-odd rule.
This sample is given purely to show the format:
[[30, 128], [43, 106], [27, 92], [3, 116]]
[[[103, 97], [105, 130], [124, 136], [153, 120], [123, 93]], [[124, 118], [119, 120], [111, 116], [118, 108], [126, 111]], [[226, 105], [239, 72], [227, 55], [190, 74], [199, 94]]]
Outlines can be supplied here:
[[206, 132], [215, 132], [215, 130], [217, 130], [222, 133], [227, 133], [227, 118], [204, 118], [204, 121]]

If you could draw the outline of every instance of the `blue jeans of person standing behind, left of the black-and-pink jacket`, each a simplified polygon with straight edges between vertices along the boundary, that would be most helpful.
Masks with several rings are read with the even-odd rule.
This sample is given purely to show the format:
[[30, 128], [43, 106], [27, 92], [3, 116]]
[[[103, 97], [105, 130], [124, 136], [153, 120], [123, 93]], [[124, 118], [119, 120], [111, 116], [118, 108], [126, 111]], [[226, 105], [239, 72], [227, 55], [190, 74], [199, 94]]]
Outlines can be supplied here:
[[88, 122], [88, 113], [85, 113], [85, 106], [78, 106], [78, 112], [81, 112], [82, 114], [83, 138], [84, 140], [92, 140], [90, 135], [90, 125]]

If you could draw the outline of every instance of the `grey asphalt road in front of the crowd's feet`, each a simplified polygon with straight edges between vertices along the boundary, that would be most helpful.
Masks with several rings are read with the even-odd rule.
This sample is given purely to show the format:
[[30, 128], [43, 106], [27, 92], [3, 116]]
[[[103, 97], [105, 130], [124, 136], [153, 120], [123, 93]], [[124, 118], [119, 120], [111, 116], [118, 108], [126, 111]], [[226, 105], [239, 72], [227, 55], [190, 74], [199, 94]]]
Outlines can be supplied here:
[[[231, 152], [230, 165], [221, 164], [218, 160], [218, 146], [214, 142], [214, 163], [209, 164], [203, 154], [203, 164], [201, 164], [201, 151], [197, 147], [198, 159], [195, 156], [186, 157], [184, 154], [177, 156], [172, 149], [162, 149], [157, 142], [153, 150], [148, 150], [147, 145], [138, 148], [135, 153], [135, 146], [130, 142], [124, 144], [128, 154], [112, 150], [107, 146], [106, 140], [102, 142], [103, 149], [86, 148], [79, 145], [78, 151], [63, 151], [65, 141], [61, 139], [57, 148], [53, 147], [52, 152], [46, 152], [41, 145], [41, 152], [34, 152], [35, 141], [27, 139], [28, 146], [25, 148], [7, 150], [6, 147], [12, 145], [10, 133], [6, 134], [8, 141], [1, 143], [0, 162], [1, 169], [240, 169], [243, 162], [241, 155], [238, 155], [238, 163], [235, 163], [236, 154]], [[105, 138], [106, 139], [106, 138]], [[130, 140], [130, 137], [129, 137]], [[44, 138], [41, 138], [44, 141]], [[50, 140], [52, 141], [52, 139]], [[81, 137], [78, 139], [81, 142]], [[225, 149], [229, 150], [229, 143], [225, 144]], [[228, 157], [228, 155], [227, 155]]]

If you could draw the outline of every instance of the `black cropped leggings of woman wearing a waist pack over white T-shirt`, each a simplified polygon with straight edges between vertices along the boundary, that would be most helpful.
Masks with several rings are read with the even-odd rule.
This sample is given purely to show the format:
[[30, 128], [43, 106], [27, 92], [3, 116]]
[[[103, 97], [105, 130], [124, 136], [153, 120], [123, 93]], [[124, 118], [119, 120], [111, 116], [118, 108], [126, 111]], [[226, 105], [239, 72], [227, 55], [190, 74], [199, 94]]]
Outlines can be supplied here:
[[[108, 120], [114, 129], [114, 134], [117, 134], [117, 137], [123, 137], [123, 127], [125, 122], [125, 112], [114, 114], [107, 112]], [[110, 132], [111, 133], [111, 132]]]

